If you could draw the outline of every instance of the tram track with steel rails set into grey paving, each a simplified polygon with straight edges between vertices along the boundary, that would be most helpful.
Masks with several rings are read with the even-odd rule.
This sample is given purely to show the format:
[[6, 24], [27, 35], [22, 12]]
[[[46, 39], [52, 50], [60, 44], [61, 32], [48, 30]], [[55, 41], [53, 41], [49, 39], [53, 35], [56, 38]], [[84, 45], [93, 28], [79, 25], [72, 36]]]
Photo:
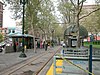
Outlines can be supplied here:
[[[20, 70], [24, 69], [25, 67], [29, 67], [29, 64], [32, 64], [33, 62], [38, 62], [41, 58], [46, 58], [46, 55], [49, 55], [50, 53], [52, 54], [51, 57], [45, 61], [45, 62], [40, 62], [40, 68], [38, 68], [36, 71], [33, 71], [34, 72], [34, 75], [38, 75], [42, 69], [46, 66], [46, 64], [52, 59], [52, 57], [59, 51], [59, 49], [56, 51], [56, 52], [48, 52], [48, 51], [45, 51], [44, 53], [38, 55], [38, 56], [35, 56], [35, 57], [32, 57], [30, 59], [27, 59], [26, 61], [20, 63], [20, 64], [17, 64], [17, 65], [14, 65], [2, 72], [0, 72], [0, 75], [21, 75], [21, 74], [16, 74], [16, 72], [19, 72]], [[37, 63], [37, 65], [39, 64], [39, 62]], [[36, 66], [36, 63], [31, 65], [31, 66]], [[22, 74], [23, 75], [23, 74]]]

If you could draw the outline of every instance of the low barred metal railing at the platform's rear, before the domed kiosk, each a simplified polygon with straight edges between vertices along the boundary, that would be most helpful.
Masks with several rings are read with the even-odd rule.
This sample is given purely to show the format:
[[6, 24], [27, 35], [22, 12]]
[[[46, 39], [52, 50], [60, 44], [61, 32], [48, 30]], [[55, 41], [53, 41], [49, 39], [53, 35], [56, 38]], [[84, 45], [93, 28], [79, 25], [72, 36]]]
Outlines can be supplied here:
[[87, 48], [63, 48], [61, 54], [63, 56], [87, 57], [89, 55], [89, 50]]

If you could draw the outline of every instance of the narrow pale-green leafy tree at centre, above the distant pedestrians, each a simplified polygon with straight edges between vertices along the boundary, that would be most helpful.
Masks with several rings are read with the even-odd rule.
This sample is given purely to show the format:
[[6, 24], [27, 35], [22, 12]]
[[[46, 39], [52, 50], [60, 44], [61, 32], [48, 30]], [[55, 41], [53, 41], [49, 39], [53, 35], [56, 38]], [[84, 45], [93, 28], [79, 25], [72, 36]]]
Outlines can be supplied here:
[[52, 15], [52, 10], [53, 10], [52, 4], [53, 3], [48, 0], [42, 2], [40, 10], [41, 13], [38, 15], [39, 23], [37, 24], [37, 26], [39, 26], [39, 28], [43, 31], [45, 40], [46, 40], [46, 35], [48, 36], [48, 34], [50, 34], [52, 21], [53, 20], [55, 21], [54, 16]]

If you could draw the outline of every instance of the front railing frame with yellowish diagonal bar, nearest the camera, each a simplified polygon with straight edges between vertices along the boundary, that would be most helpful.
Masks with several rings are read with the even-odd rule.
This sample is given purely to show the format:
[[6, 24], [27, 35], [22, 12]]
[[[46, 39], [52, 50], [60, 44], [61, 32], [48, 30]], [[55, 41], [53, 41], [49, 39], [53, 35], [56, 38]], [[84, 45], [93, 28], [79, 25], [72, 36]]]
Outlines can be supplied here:
[[[79, 68], [80, 70], [86, 72], [84, 75], [86, 75], [86, 74], [94, 75], [93, 73], [91, 73], [91, 72], [89, 72], [88, 70], [82, 68], [81, 66], [79, 66], [79, 65], [77, 65], [77, 64], [74, 64], [72, 61], [70, 61], [69, 59], [67, 59], [66, 57], [64, 57], [64, 56], [62, 56], [62, 55], [54, 56], [54, 73], [53, 73], [54, 75], [67, 75], [67, 74], [68, 74], [67, 72], [63, 73], [63, 71], [62, 71], [62, 73], [60, 73], [60, 74], [56, 72], [56, 69], [57, 69], [57, 68], [62, 68], [62, 69], [63, 69], [63, 68], [68, 68], [68, 67], [66, 67], [65, 65], [57, 66], [57, 65], [56, 65], [56, 62], [57, 62], [58, 59], [62, 59], [62, 60], [65, 61], [66, 63], [68, 63], [68, 64], [70, 64], [70, 65], [72, 65], [72, 66], [75, 66], [75, 67]], [[82, 75], [83, 75], [83, 74], [82, 74]]]

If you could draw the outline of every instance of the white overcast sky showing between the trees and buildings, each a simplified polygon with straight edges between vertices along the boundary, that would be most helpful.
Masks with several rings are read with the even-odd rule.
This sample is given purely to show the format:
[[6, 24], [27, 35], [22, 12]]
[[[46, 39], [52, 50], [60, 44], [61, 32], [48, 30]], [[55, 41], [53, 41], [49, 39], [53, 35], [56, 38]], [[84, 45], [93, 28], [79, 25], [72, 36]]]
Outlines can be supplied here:
[[[55, 1], [58, 1], [58, 0], [55, 0]], [[94, 1], [95, 0], [86, 0], [85, 4], [93, 4]], [[59, 14], [59, 12], [57, 12], [56, 14]], [[7, 6], [4, 8], [4, 11], [3, 11], [3, 27], [16, 27], [16, 21], [12, 19], [11, 17], [12, 17], [12, 13], [10, 12]]]

